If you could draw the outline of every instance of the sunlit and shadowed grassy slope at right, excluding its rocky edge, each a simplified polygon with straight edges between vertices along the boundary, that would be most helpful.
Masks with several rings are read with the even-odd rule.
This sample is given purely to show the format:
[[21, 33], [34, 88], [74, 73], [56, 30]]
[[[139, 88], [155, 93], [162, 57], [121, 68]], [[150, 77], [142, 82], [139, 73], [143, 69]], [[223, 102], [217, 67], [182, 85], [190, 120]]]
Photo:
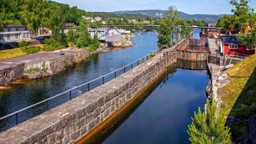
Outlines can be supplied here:
[[230, 128], [233, 139], [242, 141], [245, 120], [256, 113], [256, 55], [240, 61], [227, 74], [231, 82], [223, 87], [221, 109], [226, 115], [241, 119], [241, 123]]

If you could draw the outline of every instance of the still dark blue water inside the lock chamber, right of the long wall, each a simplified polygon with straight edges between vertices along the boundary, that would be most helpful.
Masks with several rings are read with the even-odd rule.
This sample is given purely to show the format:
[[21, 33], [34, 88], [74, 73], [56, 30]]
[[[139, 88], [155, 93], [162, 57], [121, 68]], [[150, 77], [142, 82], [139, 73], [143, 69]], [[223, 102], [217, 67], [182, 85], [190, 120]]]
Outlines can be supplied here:
[[187, 125], [193, 111], [205, 104], [208, 81], [206, 71], [169, 73], [113, 133], [101, 136], [101, 142], [189, 143]]

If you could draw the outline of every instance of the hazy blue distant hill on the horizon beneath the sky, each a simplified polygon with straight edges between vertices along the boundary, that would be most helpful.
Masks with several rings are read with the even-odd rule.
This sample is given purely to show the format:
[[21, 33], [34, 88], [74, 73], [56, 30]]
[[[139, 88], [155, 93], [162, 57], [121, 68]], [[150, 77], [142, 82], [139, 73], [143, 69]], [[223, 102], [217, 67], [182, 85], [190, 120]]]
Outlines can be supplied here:
[[[147, 15], [155, 18], [163, 18], [165, 17], [166, 12], [167, 11], [165, 10], [155, 9], [155, 10], [139, 10], [139, 11], [113, 11], [112, 13], [141, 14], [141, 15]], [[181, 11], [179, 11], [179, 15], [181, 19], [195, 19], [197, 21], [207, 21], [207, 22], [217, 22], [219, 17], [223, 17], [223, 15], [202, 15], [202, 14], [189, 15]]]

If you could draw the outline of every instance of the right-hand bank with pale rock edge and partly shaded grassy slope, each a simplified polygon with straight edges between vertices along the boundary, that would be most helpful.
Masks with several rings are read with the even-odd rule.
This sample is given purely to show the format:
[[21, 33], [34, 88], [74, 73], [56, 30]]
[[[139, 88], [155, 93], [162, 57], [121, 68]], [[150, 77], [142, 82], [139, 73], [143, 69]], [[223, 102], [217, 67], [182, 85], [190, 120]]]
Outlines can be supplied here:
[[235, 143], [256, 141], [255, 131], [250, 130], [254, 123], [250, 121], [255, 121], [253, 115], [256, 114], [255, 61], [256, 55], [253, 55], [226, 71], [221, 71], [223, 66], [208, 64], [213, 69], [212, 79], [207, 87], [208, 94], [217, 100], [219, 111], [226, 115], [226, 125], [231, 128]]

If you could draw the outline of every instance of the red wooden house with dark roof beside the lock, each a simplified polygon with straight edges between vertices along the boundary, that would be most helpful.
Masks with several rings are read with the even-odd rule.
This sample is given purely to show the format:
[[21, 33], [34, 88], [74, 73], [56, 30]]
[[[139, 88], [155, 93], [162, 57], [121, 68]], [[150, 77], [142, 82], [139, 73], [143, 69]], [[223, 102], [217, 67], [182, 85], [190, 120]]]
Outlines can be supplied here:
[[221, 52], [224, 55], [254, 55], [255, 45], [243, 45], [235, 35], [223, 35], [221, 37], [222, 45]]

